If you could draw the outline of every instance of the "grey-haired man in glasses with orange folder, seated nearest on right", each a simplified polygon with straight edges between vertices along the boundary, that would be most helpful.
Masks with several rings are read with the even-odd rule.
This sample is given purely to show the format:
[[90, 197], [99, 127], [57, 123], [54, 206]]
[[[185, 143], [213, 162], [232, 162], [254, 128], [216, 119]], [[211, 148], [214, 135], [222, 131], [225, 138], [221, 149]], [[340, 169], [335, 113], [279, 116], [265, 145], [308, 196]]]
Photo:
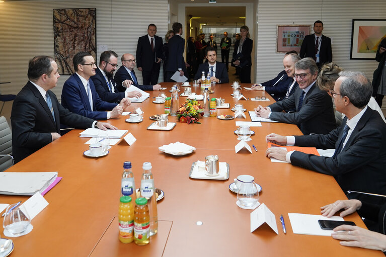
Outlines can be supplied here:
[[331, 94], [337, 111], [346, 115], [340, 127], [327, 135], [266, 136], [267, 142], [280, 145], [335, 148], [334, 155], [287, 152], [280, 147], [269, 148], [266, 155], [332, 175], [345, 193], [351, 190], [386, 195], [386, 124], [377, 111], [367, 107], [371, 83], [361, 72], [342, 71], [339, 75]]

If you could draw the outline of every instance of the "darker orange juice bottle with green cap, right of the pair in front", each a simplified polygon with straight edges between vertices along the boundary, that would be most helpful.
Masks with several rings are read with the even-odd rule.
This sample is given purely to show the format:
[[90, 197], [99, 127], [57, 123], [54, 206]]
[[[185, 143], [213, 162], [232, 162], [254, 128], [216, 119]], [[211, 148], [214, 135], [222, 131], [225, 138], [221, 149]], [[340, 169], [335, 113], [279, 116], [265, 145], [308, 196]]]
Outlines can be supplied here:
[[150, 241], [150, 215], [147, 200], [139, 197], [135, 200], [134, 209], [134, 242], [137, 245], [146, 245]]

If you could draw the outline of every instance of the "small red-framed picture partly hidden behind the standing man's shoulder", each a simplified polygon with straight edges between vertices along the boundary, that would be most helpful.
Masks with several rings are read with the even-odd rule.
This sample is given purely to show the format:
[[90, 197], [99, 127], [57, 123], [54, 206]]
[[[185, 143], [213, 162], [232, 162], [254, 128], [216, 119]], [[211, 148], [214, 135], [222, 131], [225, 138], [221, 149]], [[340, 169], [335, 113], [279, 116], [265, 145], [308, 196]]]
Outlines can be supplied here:
[[304, 37], [310, 35], [311, 25], [277, 25], [276, 53], [300, 52]]

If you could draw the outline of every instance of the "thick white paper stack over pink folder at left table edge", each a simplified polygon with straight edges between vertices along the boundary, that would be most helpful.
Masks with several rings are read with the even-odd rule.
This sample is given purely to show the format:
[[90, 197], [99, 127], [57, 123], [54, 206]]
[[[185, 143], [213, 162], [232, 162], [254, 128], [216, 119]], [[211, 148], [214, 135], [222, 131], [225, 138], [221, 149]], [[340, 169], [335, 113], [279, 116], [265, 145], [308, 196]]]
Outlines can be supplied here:
[[57, 178], [57, 172], [2, 172], [0, 194], [32, 196], [42, 193]]

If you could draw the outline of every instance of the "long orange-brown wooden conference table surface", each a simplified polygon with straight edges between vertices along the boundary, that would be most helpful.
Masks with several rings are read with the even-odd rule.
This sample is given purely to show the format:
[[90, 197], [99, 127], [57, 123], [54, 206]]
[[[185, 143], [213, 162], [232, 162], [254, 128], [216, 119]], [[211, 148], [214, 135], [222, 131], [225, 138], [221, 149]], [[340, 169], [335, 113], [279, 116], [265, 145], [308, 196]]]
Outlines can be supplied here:
[[[162, 83], [170, 96], [173, 83]], [[250, 87], [250, 84], [242, 84]], [[181, 93], [184, 87], [181, 87]], [[192, 91], [200, 94], [199, 87]], [[248, 99], [237, 100], [230, 83], [217, 84], [211, 98], [224, 98], [233, 107], [244, 105], [253, 111], [257, 105], [274, 103], [269, 94], [262, 91], [242, 90]], [[320, 215], [320, 207], [338, 199], [346, 199], [332, 176], [292, 166], [289, 163], [272, 163], [265, 156], [265, 135], [301, 135], [295, 125], [262, 123], [251, 127], [255, 135], [247, 143], [254, 144], [257, 152], [247, 149], [235, 152], [237, 140], [236, 121], [202, 117], [201, 124], [179, 123], [169, 116], [169, 122], [177, 122], [171, 131], [147, 130], [154, 121], [149, 117], [164, 113], [163, 104], [152, 103], [160, 92], [148, 92], [150, 97], [143, 103], [132, 103], [133, 111], [141, 107], [144, 119], [140, 123], [128, 123], [122, 116], [108, 120], [119, 129], [128, 130], [136, 141], [125, 141], [112, 146], [104, 157], [84, 156], [89, 149], [89, 138], [79, 137], [83, 130], [74, 129], [60, 139], [20, 161], [7, 172], [58, 172], [63, 179], [44, 198], [49, 205], [33, 220], [33, 230], [24, 236], [13, 238], [15, 248], [11, 256], [383, 256], [380, 251], [341, 246], [330, 236], [294, 234], [288, 213]], [[269, 101], [251, 101], [265, 95]], [[180, 97], [180, 104], [186, 97]], [[233, 114], [230, 109], [217, 109], [217, 115]], [[158, 147], [183, 142], [196, 150], [188, 155], [174, 156], [161, 152]], [[228, 180], [200, 180], [189, 178], [192, 163], [216, 154], [219, 161], [229, 164]], [[156, 188], [165, 192], [158, 202], [159, 230], [150, 243], [137, 246], [118, 240], [118, 204], [120, 197], [123, 162], [132, 162], [136, 188], [140, 186], [142, 163], [150, 161]], [[239, 175], [248, 174], [262, 187], [260, 203], [264, 203], [275, 215], [279, 234], [263, 224], [250, 232], [250, 213], [236, 205], [237, 194], [228, 189]], [[28, 196], [0, 196], [0, 203], [26, 201]], [[287, 233], [279, 221], [283, 215]], [[365, 227], [354, 213], [345, 220]], [[3, 219], [0, 219], [3, 222]], [[198, 225], [197, 223], [201, 222]], [[1, 236], [3, 230], [1, 230]]]

